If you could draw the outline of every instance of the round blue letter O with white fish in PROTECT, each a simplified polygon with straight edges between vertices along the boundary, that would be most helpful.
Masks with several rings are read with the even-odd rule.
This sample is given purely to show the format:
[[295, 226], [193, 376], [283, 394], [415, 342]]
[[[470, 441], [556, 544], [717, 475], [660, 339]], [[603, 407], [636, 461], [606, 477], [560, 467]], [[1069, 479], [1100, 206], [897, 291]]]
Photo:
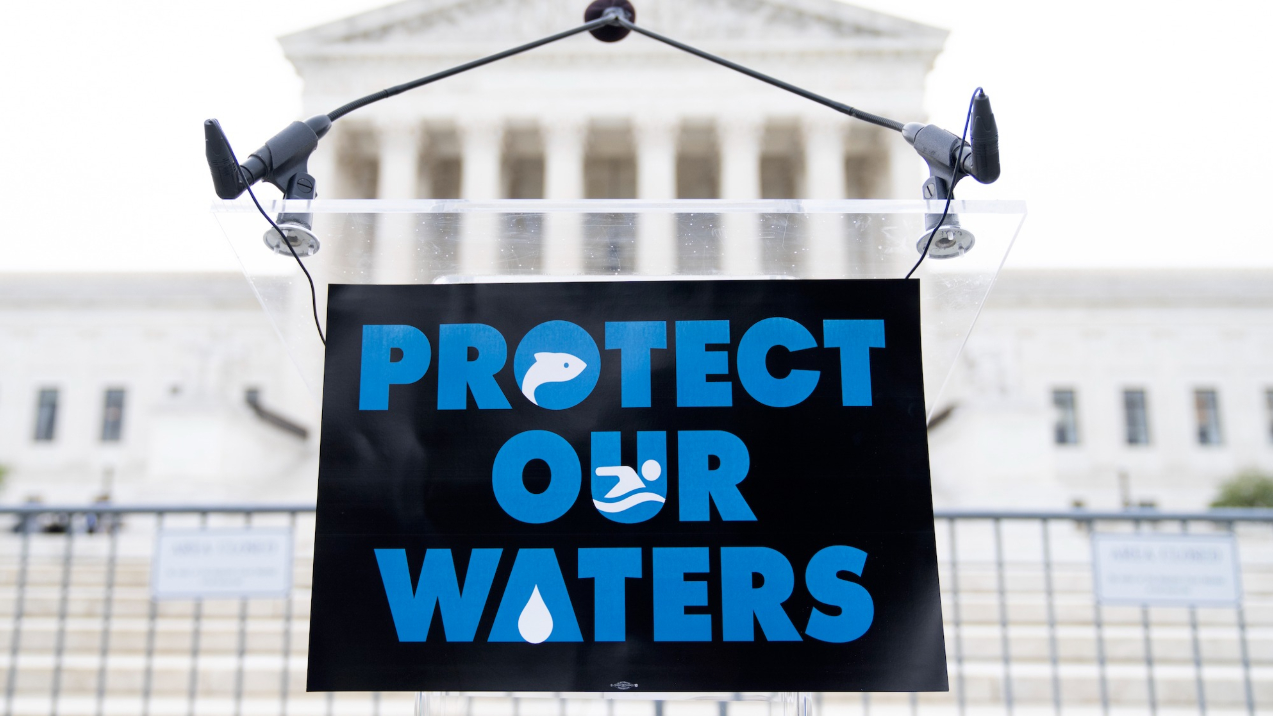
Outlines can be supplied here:
[[527, 400], [550, 410], [583, 401], [601, 376], [601, 353], [588, 331], [547, 321], [527, 331], [513, 354], [513, 375]]

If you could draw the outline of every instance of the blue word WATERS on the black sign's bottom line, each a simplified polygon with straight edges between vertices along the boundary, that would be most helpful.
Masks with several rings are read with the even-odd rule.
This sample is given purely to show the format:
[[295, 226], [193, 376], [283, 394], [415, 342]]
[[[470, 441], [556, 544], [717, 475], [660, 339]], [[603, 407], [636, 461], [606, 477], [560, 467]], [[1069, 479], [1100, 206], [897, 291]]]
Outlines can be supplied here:
[[[440, 614], [446, 641], [474, 641], [490, 604], [502, 552], [474, 549], [461, 590], [452, 550], [426, 549], [419, 586], [412, 590], [406, 550], [376, 549], [398, 641], [426, 641], [434, 612]], [[713, 578], [707, 547], [652, 549], [653, 573], [645, 589], [653, 598], [654, 641], [712, 641], [713, 614], [721, 615], [724, 641], [755, 641], [756, 624], [766, 641], [801, 641], [783, 608], [794, 590], [787, 557], [768, 547], [723, 547], [719, 555], [721, 604], [714, 605], [708, 598], [708, 582], [687, 578], [687, 575]], [[626, 641], [628, 582], [643, 577], [642, 548], [580, 548], [578, 557], [579, 580], [593, 580], [592, 640]], [[862, 585], [839, 577], [840, 572], [861, 576], [866, 557], [861, 549], [833, 545], [810, 559], [805, 571], [808, 594], [839, 614], [833, 617], [815, 606], [806, 634], [845, 643], [871, 628], [875, 619], [871, 595]], [[710, 608], [713, 613], [686, 614], [686, 608]], [[555, 550], [517, 552], [488, 641], [583, 641]]]

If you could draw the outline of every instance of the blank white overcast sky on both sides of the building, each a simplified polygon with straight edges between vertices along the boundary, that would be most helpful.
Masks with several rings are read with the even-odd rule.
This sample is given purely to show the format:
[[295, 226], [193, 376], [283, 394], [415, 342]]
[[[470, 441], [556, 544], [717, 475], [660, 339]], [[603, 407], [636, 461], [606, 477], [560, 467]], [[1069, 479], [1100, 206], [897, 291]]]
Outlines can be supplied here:
[[[6, 5], [0, 271], [237, 269], [202, 120], [260, 145], [300, 111], [275, 37], [384, 4]], [[960, 196], [1027, 201], [1009, 265], [1273, 268], [1273, 3], [855, 4], [951, 31], [929, 121], [992, 97], [1003, 178]]]

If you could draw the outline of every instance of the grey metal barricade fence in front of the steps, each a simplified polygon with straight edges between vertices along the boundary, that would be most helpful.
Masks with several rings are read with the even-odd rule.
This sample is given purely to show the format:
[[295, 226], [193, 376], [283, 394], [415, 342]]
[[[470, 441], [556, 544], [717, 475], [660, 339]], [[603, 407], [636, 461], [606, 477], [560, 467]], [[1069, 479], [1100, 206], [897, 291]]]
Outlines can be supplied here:
[[[0, 525], [3, 716], [416, 708], [409, 693], [306, 693], [313, 507], [0, 507]], [[159, 530], [222, 526], [292, 530], [290, 596], [153, 600]], [[938, 511], [936, 526], [950, 692], [812, 694], [815, 716], [1273, 712], [1273, 510]], [[1099, 604], [1091, 535], [1136, 531], [1234, 535], [1241, 603]], [[463, 694], [446, 711], [616, 713], [544, 696]], [[763, 712], [705, 706], [625, 702], [617, 713]]]

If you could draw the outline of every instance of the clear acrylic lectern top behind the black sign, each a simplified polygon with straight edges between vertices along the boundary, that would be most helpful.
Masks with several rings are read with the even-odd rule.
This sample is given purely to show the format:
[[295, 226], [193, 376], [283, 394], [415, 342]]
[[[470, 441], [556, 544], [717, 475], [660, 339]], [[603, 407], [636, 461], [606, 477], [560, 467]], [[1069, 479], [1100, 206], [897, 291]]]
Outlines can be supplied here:
[[[320, 248], [304, 257], [326, 320], [328, 284], [524, 280], [900, 279], [919, 259], [925, 214], [941, 201], [318, 200], [274, 201], [309, 213]], [[243, 273], [317, 396], [323, 347], [309, 288], [275, 254], [251, 201], [213, 206]], [[915, 271], [924, 394], [932, 410], [1025, 219], [1021, 201], [953, 201], [974, 241]], [[272, 229], [270, 229], [272, 232]]]

